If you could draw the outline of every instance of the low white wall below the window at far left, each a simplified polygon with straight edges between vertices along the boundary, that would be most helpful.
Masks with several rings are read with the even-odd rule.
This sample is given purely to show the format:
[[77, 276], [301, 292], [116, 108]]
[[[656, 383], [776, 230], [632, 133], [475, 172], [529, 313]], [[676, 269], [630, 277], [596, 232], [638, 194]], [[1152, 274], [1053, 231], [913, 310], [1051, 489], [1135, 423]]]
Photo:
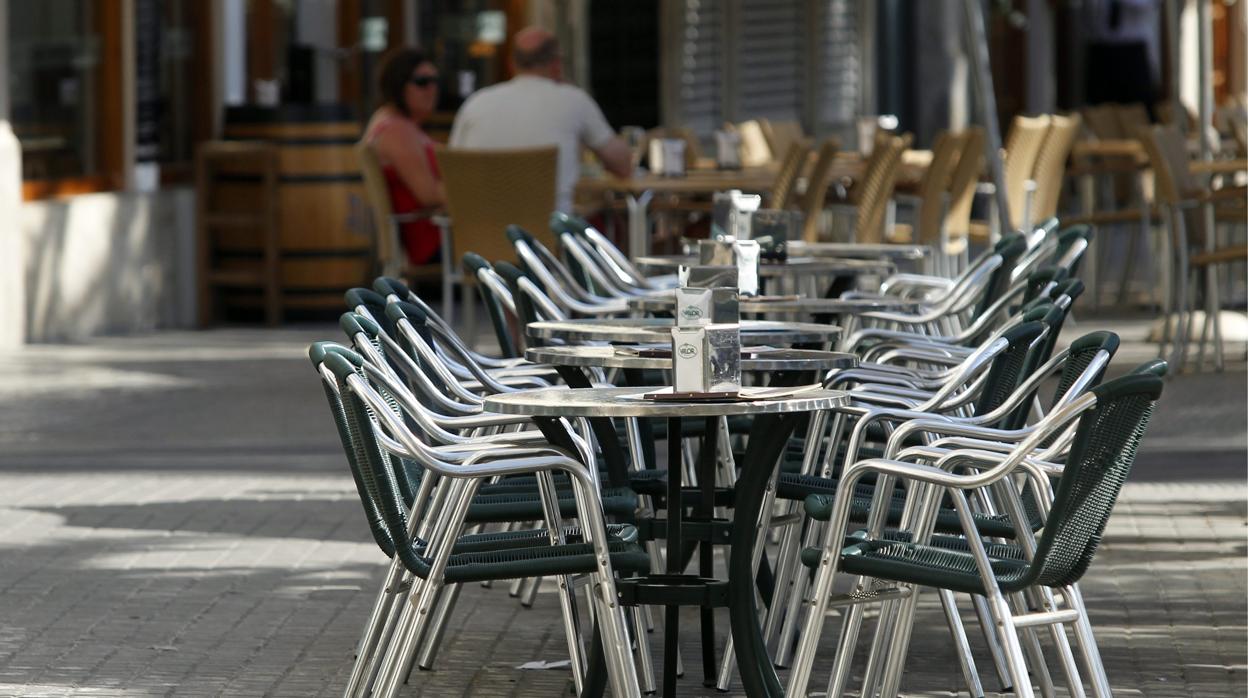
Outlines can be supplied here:
[[192, 326], [193, 215], [190, 187], [22, 205], [26, 341]]

